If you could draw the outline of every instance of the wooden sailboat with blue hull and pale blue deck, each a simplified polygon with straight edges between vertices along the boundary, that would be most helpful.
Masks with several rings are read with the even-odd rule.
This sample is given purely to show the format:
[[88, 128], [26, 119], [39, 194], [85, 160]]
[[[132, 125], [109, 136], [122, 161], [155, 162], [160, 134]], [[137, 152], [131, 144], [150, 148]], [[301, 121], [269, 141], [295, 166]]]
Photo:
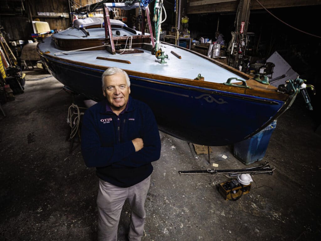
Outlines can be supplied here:
[[[110, 19], [113, 8], [139, 8], [142, 31]], [[104, 3], [103, 18], [75, 20], [73, 27], [44, 38], [37, 50], [58, 81], [94, 101], [103, 99], [102, 73], [109, 67], [125, 70], [131, 96], [151, 107], [159, 129], [199, 145], [225, 146], [250, 138], [291, 106], [300, 79], [276, 88], [215, 59], [161, 42], [162, 8], [162, 0], [156, 0], [155, 38], [147, 0]], [[144, 32], [144, 16], [149, 33]]]

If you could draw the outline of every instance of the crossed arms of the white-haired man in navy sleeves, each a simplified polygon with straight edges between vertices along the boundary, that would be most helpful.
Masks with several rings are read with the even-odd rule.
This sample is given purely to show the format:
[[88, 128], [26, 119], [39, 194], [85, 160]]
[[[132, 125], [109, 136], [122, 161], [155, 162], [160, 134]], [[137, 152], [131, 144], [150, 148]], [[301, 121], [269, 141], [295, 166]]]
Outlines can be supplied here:
[[82, 156], [88, 167], [139, 167], [160, 158], [160, 136], [151, 110], [144, 119], [142, 137], [104, 147], [91, 113], [83, 116]]

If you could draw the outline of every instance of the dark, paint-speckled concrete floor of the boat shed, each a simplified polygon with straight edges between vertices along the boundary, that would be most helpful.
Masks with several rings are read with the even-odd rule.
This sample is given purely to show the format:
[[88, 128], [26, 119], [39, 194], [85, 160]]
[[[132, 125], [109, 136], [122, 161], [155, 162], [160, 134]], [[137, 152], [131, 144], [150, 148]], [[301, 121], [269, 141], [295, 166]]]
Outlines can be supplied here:
[[[40, 70], [26, 73], [26, 79], [48, 76]], [[98, 178], [84, 165], [80, 147], [69, 154], [66, 118], [72, 97], [62, 87], [53, 77], [26, 81], [25, 93], [3, 105], [0, 240], [97, 239]], [[320, 240], [318, 124], [299, 96], [278, 119], [261, 162], [246, 166], [231, 146], [212, 147], [211, 163], [219, 169], [265, 161], [275, 167], [273, 175], [254, 175], [250, 193], [238, 201], [225, 201], [217, 190], [226, 176], [178, 174], [211, 168], [208, 156], [160, 132], [161, 157], [153, 163], [143, 240]], [[119, 241], [127, 240], [129, 213], [125, 203]]]

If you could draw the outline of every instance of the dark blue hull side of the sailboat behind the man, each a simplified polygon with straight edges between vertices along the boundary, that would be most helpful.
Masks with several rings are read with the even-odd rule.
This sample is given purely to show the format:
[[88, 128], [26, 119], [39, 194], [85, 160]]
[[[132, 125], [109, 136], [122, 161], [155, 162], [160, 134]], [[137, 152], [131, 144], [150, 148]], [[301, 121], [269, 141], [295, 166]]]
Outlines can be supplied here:
[[[74, 92], [99, 101], [102, 70], [41, 56], [51, 74]], [[206, 146], [242, 141], [272, 122], [284, 102], [129, 76], [131, 96], [153, 110], [159, 129]]]

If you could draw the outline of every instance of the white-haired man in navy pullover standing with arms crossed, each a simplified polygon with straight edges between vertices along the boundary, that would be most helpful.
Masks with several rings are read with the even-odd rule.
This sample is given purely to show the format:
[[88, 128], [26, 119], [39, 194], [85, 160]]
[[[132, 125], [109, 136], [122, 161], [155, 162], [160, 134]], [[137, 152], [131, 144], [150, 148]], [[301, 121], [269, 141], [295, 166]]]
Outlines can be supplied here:
[[105, 100], [91, 106], [82, 121], [82, 156], [99, 177], [98, 240], [116, 241], [124, 202], [131, 206], [130, 241], [143, 236], [144, 202], [151, 162], [160, 158], [160, 136], [151, 109], [132, 99], [127, 73], [108, 68], [102, 75]]

